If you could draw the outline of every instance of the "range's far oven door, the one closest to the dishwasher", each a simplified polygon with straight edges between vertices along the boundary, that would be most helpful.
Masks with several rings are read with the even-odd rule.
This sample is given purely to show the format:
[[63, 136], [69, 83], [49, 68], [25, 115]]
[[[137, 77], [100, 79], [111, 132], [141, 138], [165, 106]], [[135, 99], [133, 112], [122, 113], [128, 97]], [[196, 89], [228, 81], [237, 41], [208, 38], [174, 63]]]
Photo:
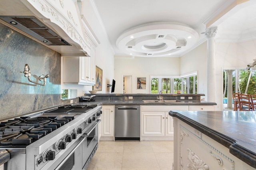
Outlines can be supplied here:
[[[89, 128], [87, 132], [85, 132], [86, 140], [82, 143], [82, 166], [83, 170], [87, 169], [88, 164], [90, 163], [90, 156], [92, 152], [96, 152], [97, 148], [94, 149], [98, 144], [98, 124], [100, 123], [100, 119], [96, 121], [96, 124], [93, 125], [92, 128]], [[93, 156], [93, 155], [92, 155]], [[92, 157], [91, 156], [91, 157]], [[90, 159], [88, 159], [90, 158]]]

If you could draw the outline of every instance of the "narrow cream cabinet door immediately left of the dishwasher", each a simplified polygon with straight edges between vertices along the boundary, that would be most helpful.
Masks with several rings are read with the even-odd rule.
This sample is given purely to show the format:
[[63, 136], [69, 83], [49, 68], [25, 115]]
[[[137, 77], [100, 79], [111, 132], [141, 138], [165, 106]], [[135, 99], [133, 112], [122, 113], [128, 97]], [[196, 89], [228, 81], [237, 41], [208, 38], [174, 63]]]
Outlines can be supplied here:
[[114, 137], [114, 106], [102, 106], [101, 136]]

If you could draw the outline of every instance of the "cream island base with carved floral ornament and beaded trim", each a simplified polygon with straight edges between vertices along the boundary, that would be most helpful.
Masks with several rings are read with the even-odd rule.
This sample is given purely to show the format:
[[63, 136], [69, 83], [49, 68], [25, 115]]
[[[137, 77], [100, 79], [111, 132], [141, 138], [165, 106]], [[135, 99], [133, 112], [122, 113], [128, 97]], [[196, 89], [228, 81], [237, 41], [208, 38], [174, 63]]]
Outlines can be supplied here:
[[172, 170], [255, 170], [229, 149], [174, 117]]

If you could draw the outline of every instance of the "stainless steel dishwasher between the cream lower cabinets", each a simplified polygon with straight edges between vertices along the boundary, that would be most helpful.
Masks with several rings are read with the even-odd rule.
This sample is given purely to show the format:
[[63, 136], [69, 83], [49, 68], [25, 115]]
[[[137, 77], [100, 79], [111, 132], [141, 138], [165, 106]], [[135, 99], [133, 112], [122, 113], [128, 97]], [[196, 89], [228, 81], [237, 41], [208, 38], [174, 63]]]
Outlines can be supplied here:
[[115, 140], [140, 140], [140, 106], [116, 105], [114, 129]]

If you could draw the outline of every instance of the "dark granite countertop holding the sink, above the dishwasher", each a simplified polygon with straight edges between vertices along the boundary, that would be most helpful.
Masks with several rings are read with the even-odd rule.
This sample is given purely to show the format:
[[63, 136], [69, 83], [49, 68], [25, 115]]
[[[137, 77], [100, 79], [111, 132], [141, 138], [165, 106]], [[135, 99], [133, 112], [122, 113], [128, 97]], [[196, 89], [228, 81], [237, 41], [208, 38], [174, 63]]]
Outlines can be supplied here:
[[[180, 100], [181, 101], [181, 100]], [[152, 103], [144, 103], [143, 101], [93, 101], [93, 102], [79, 102], [79, 104], [85, 105], [216, 105], [214, 102], [200, 101], [200, 100], [182, 100], [182, 102], [152, 102]]]

